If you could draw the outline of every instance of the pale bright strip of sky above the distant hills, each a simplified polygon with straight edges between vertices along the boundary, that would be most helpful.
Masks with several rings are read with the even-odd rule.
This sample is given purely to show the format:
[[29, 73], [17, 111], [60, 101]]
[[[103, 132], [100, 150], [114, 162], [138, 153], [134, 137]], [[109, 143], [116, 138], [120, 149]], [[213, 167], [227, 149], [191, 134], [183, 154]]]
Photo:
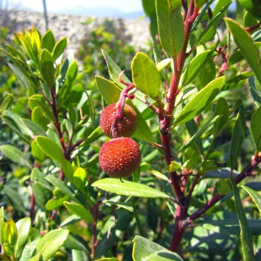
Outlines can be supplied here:
[[[22, 6], [35, 11], [43, 10], [42, 0], [11, 0], [11, 2], [15, 6]], [[73, 8], [74, 6], [83, 6], [85, 8], [110, 6], [124, 12], [142, 10], [141, 0], [46, 0], [46, 4], [50, 12], [59, 11], [59, 9]]]

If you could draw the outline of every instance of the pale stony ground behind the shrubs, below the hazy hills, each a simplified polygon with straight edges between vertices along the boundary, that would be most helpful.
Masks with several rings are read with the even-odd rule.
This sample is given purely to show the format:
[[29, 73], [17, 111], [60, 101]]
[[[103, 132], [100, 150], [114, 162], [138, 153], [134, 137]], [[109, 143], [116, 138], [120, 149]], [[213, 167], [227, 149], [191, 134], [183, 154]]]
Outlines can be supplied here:
[[[15, 20], [15, 26], [11, 29], [12, 31], [23, 31], [25, 28], [29, 29], [32, 26], [36, 26], [41, 33], [45, 32], [45, 20], [41, 12], [13, 10], [9, 15], [11, 19]], [[150, 41], [149, 21], [147, 19], [127, 20], [127, 18], [128, 16], [126, 19], [110, 19], [114, 19], [116, 25], [123, 21], [126, 27], [125, 34], [131, 36], [129, 37], [131, 38], [131, 45], [134, 45], [135, 49], [139, 51], [140, 48], [146, 47], [144, 43]], [[54, 35], [58, 39], [67, 37], [67, 53], [75, 53], [84, 35], [99, 27], [105, 19], [97, 17], [95, 13], [92, 13], [91, 16], [48, 13], [49, 29], [53, 30]], [[90, 20], [91, 22], [89, 22]]]

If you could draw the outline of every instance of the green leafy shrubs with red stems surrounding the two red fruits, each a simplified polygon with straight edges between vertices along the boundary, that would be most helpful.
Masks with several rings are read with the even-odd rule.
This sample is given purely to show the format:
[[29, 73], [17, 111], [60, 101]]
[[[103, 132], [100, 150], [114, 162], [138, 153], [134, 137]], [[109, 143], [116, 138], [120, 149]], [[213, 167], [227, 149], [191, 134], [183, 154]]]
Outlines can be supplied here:
[[[260, 20], [188, 2], [143, 0], [153, 45], [136, 54], [122, 20], [83, 35], [78, 61], [51, 30], [0, 29], [0, 259], [260, 259]], [[142, 160], [118, 180], [99, 115], [125, 102]]]

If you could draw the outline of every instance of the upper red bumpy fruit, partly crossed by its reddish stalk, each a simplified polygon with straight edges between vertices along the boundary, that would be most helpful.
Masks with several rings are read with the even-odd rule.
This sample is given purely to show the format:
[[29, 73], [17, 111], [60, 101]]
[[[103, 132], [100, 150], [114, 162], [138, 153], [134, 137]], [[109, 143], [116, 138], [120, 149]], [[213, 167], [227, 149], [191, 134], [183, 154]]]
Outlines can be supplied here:
[[[116, 104], [110, 104], [105, 107], [101, 113], [100, 117], [100, 126], [102, 132], [112, 138], [111, 127], [114, 122], [114, 116], [116, 114], [115, 109]], [[138, 125], [138, 117], [132, 107], [128, 104], [125, 104], [123, 117], [118, 123], [118, 137], [131, 137], [135, 132]]]

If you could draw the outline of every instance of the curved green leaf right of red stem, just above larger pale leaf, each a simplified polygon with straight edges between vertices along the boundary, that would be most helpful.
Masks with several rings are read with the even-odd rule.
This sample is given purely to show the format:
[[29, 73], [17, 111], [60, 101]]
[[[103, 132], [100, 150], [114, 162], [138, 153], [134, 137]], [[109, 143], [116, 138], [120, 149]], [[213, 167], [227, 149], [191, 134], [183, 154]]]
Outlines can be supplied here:
[[207, 61], [215, 57], [217, 54], [211, 50], [206, 50], [197, 55], [185, 70], [182, 78], [182, 85], [189, 84], [196, 79], [201, 69]]

